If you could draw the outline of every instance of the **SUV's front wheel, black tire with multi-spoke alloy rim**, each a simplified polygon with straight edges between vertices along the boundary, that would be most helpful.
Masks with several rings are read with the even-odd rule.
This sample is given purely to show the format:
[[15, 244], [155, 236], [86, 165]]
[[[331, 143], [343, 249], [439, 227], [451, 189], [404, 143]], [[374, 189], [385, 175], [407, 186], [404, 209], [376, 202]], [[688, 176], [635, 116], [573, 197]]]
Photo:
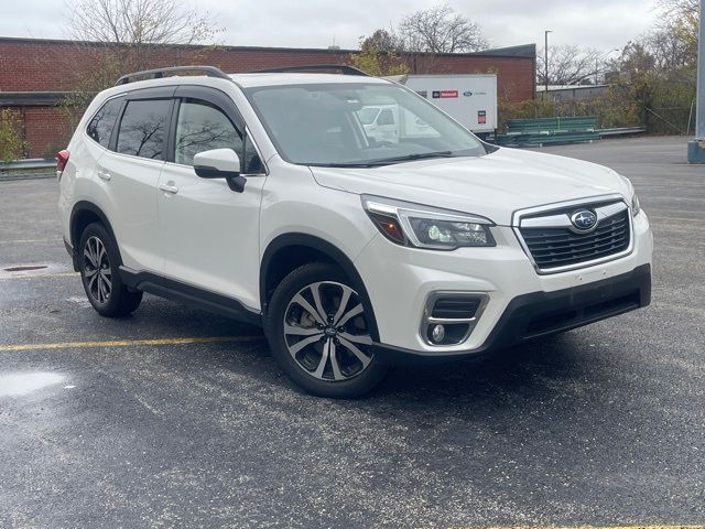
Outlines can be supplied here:
[[370, 352], [368, 314], [337, 267], [304, 264], [284, 278], [270, 301], [265, 331], [272, 356], [310, 393], [360, 397], [388, 369]]

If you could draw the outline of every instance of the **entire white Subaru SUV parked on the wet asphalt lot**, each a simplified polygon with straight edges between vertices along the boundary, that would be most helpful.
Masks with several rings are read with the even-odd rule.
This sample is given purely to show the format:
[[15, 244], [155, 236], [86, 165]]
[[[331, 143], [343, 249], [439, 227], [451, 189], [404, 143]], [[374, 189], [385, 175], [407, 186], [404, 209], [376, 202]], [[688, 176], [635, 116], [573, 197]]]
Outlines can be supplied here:
[[[164, 76], [181, 69], [207, 75]], [[484, 143], [348, 67], [283, 69], [142, 72], [95, 98], [57, 173], [96, 311], [144, 291], [260, 324], [296, 384], [351, 397], [394, 361], [649, 304], [652, 235], [627, 179]], [[366, 132], [370, 107], [393, 108], [394, 141]]]

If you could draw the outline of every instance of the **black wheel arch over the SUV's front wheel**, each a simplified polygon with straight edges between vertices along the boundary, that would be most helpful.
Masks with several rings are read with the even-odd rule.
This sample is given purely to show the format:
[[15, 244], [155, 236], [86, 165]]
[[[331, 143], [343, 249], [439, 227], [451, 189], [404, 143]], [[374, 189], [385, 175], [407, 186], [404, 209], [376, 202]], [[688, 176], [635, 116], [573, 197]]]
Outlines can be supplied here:
[[372, 339], [379, 342], [375, 310], [367, 293], [365, 281], [355, 264], [343, 250], [330, 242], [307, 234], [284, 234], [274, 238], [262, 256], [260, 263], [260, 303], [262, 315], [267, 315], [269, 300], [276, 285], [296, 268], [307, 262], [330, 262], [336, 264], [352, 282], [369, 315], [369, 331]]

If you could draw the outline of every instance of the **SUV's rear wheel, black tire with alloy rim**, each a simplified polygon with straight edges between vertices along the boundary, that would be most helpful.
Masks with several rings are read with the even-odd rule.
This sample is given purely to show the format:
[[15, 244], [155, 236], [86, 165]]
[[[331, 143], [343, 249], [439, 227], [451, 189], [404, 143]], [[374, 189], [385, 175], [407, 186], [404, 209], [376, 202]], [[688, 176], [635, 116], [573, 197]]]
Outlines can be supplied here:
[[84, 290], [98, 314], [119, 317], [140, 306], [142, 292], [129, 291], [120, 280], [120, 252], [101, 224], [86, 226], [80, 236], [79, 256]]

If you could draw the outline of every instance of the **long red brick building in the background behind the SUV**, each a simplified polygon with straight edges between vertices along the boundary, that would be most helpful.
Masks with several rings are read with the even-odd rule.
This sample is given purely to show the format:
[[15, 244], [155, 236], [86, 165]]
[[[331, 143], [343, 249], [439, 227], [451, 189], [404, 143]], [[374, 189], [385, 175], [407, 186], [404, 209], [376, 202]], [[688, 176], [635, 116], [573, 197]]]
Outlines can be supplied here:
[[[72, 41], [0, 37], [0, 108], [22, 116], [29, 158], [48, 158], [63, 148], [70, 127], [59, 102], [75, 89], [76, 74], [98, 61], [101, 44]], [[316, 50], [252, 46], [169, 46], [159, 53], [158, 66], [210, 64], [228, 73], [276, 66], [344, 64], [354, 50]], [[500, 100], [521, 101], [535, 94], [535, 45], [478, 53], [416, 54], [403, 57], [412, 72], [419, 62], [429, 74], [496, 73]], [[68, 75], [70, 73], [72, 75]]]

